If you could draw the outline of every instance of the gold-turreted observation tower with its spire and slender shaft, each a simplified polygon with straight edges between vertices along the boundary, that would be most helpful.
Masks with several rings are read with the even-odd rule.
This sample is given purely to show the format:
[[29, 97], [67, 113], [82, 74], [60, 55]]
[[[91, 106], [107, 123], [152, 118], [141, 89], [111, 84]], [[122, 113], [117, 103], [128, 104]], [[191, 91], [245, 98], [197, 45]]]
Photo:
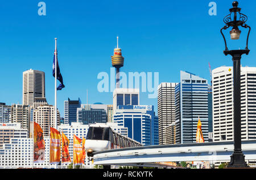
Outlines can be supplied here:
[[112, 58], [112, 66], [115, 68], [116, 73], [116, 88], [119, 88], [119, 69], [123, 66], [124, 57], [122, 56], [122, 49], [118, 48], [118, 36], [117, 36], [117, 48], [114, 49], [114, 56]]

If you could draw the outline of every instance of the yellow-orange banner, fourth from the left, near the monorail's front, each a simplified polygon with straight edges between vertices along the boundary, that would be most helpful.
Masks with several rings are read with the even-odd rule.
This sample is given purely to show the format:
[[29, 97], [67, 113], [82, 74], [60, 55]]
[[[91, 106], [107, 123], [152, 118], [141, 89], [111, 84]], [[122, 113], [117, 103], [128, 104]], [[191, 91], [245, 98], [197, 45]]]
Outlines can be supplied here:
[[82, 164], [82, 146], [81, 139], [74, 135], [73, 138], [73, 164], [81, 165]]

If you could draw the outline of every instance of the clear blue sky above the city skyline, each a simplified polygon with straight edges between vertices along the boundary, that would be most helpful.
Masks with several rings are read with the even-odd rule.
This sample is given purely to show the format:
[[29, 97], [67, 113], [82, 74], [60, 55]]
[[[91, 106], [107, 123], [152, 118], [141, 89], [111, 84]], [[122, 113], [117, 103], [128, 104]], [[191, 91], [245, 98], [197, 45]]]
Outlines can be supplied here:
[[[112, 104], [112, 93], [97, 91], [97, 74], [110, 73], [117, 35], [125, 57], [121, 71], [159, 72], [159, 83], [178, 82], [180, 70], [209, 80], [208, 62], [212, 69], [232, 66], [231, 57], [222, 52], [224, 41], [220, 34], [231, 0], [212, 0], [217, 3], [216, 16], [208, 14], [211, 1], [207, 0], [42, 1], [46, 3], [46, 16], [38, 15], [40, 1], [1, 1], [0, 102], [22, 103], [22, 72], [36, 69], [46, 73], [46, 98], [54, 104], [55, 37], [66, 86], [58, 91], [61, 116], [68, 97], [80, 97], [86, 103], [86, 89], [89, 103]], [[256, 66], [256, 2], [239, 2], [252, 28], [251, 52], [242, 57], [241, 63]], [[241, 48], [245, 47], [246, 33], [243, 29], [243, 40], [237, 41]], [[147, 93], [142, 93], [141, 104], [155, 105], [156, 110], [157, 99], [148, 99]]]

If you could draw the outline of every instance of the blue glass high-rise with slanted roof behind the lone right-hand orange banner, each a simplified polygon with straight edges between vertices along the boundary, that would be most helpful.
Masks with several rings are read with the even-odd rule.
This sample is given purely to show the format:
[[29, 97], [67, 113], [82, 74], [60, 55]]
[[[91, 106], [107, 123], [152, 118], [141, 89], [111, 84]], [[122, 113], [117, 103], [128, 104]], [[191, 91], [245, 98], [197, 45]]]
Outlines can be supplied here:
[[208, 141], [207, 79], [180, 71], [180, 83], [175, 86], [176, 143], [196, 143], [200, 118], [204, 140]]

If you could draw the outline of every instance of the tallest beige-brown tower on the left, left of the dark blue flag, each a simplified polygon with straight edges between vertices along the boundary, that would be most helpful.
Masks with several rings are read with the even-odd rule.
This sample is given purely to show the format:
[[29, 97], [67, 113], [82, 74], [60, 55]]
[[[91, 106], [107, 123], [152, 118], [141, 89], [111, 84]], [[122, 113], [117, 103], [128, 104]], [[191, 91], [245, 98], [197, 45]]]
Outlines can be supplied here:
[[45, 74], [39, 70], [23, 72], [22, 102], [24, 105], [34, 105], [34, 98], [46, 97]]

